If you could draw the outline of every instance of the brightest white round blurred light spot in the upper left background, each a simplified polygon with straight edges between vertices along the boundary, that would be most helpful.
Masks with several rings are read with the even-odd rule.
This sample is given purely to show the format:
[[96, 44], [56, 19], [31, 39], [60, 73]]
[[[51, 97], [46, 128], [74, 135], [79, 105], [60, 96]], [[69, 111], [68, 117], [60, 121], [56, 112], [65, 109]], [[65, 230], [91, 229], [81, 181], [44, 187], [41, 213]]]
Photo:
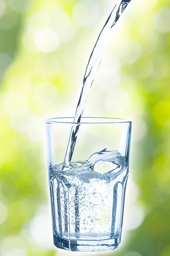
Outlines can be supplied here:
[[52, 28], [39, 29], [35, 34], [34, 42], [41, 52], [55, 52], [59, 46], [57, 32]]

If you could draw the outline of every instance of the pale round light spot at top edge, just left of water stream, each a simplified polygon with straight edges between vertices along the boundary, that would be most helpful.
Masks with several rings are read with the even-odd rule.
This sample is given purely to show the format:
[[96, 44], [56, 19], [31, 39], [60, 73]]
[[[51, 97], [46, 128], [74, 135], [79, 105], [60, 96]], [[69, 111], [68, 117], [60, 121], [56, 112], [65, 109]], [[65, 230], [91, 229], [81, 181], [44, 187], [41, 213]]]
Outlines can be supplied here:
[[99, 4], [96, 1], [78, 1], [73, 8], [73, 19], [82, 27], [93, 26], [100, 17]]

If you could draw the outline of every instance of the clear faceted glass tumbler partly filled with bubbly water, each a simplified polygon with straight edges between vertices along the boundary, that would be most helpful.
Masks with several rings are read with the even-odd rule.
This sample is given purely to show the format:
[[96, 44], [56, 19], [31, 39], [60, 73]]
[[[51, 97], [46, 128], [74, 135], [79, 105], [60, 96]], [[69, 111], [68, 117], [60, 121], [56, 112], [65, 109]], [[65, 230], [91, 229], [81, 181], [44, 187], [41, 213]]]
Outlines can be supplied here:
[[121, 242], [132, 122], [82, 117], [71, 164], [62, 170], [73, 120], [46, 120], [54, 245], [113, 250]]

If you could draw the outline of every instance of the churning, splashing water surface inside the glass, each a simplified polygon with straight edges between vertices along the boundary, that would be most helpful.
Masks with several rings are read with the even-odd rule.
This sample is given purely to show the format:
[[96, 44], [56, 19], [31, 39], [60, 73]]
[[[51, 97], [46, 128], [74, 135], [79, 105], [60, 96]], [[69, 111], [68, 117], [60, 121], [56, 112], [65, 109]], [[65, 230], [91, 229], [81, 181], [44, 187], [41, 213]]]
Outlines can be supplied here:
[[64, 170], [62, 170], [62, 163], [49, 168], [50, 174], [63, 177], [63, 180], [67, 179], [65, 182], [69, 186], [68, 184], [74, 184], [77, 179], [85, 183], [90, 183], [91, 179], [105, 180], [109, 183], [125, 170], [125, 163], [125, 156], [122, 156], [119, 151], [107, 151], [105, 148], [91, 155], [87, 161], [72, 162], [69, 168]]

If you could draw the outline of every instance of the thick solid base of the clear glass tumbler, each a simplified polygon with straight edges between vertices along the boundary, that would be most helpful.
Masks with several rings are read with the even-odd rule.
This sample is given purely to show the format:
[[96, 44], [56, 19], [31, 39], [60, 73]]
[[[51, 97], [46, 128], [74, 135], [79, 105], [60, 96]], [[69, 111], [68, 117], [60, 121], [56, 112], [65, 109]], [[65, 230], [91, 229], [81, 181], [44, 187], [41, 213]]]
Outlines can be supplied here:
[[119, 243], [119, 238], [106, 240], [71, 240], [54, 235], [54, 245], [57, 248], [70, 251], [99, 252], [114, 250], [119, 246]]

